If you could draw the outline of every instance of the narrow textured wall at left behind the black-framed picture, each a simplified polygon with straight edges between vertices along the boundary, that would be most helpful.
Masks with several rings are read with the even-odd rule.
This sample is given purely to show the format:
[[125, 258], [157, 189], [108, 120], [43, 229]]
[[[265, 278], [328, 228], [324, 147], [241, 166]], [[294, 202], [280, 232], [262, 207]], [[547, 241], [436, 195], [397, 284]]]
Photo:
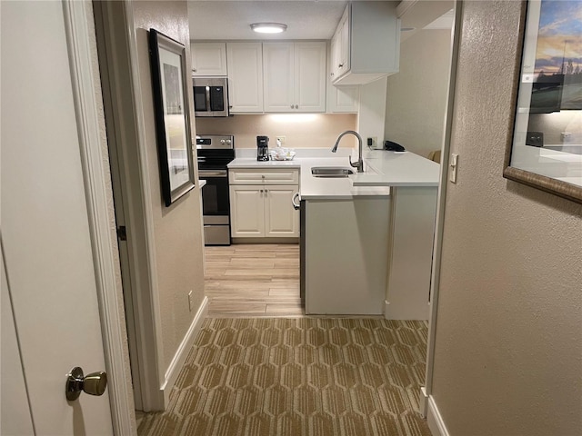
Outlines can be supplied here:
[[[168, 367], [183, 341], [197, 308], [204, 299], [203, 243], [199, 190], [186, 193], [170, 207], [162, 203], [156, 151], [156, 129], [152, 97], [147, 31], [155, 28], [186, 45], [186, 71], [190, 71], [190, 35], [186, 2], [133, 2], [135, 35], [144, 102], [146, 147], [150, 189], [154, 204], [157, 289], [161, 312], [164, 365]], [[192, 89], [189, 93], [190, 111]], [[196, 170], [197, 173], [197, 170]], [[188, 292], [193, 291], [194, 309], [188, 310]]]

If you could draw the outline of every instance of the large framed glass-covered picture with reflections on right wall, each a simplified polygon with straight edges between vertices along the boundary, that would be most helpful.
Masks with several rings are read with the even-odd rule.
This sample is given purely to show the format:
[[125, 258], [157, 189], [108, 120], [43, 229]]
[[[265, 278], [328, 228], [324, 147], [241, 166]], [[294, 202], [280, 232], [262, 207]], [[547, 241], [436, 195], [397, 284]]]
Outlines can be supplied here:
[[503, 176], [582, 203], [582, 1], [522, 3]]

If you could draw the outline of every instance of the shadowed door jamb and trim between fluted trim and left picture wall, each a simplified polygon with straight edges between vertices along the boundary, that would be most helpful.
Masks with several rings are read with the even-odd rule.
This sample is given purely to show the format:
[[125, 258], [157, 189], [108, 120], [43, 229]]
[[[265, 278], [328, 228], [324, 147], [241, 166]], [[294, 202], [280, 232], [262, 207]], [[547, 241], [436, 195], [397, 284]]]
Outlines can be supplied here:
[[112, 171], [119, 175], [114, 190], [123, 196], [120, 202], [115, 199], [115, 206], [116, 212], [123, 213], [121, 225], [127, 233], [127, 262], [122, 265], [128, 266], [123, 271], [124, 284], [130, 285], [124, 287], [124, 293], [129, 294], [126, 302], [131, 304], [132, 313], [127, 312], [133, 314], [128, 323], [135, 329], [128, 338], [130, 352], [134, 352], [132, 372], [138, 375], [134, 384], [139, 385], [139, 398], [135, 402], [141, 403], [142, 411], [163, 411], [169, 392], [166, 394], [162, 362], [152, 194], [144, 182], [150, 173], [133, 7], [127, 1], [93, 2], [107, 142], [111, 163], [116, 165]]

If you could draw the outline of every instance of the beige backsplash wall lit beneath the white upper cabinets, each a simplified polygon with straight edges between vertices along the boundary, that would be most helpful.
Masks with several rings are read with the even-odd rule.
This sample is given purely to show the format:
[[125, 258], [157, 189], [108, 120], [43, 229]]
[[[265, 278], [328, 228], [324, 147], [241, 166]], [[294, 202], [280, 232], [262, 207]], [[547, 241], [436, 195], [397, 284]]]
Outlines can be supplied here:
[[[196, 118], [196, 134], [233, 134], [235, 148], [256, 149], [256, 136], [269, 137], [269, 147], [276, 146], [276, 136], [285, 136], [287, 148], [327, 148], [336, 144], [339, 134], [356, 130], [356, 114], [257, 114], [226, 118]], [[351, 135], [350, 135], [351, 136]], [[355, 138], [354, 138], [355, 139]], [[341, 147], [353, 147], [351, 138], [342, 139]]]

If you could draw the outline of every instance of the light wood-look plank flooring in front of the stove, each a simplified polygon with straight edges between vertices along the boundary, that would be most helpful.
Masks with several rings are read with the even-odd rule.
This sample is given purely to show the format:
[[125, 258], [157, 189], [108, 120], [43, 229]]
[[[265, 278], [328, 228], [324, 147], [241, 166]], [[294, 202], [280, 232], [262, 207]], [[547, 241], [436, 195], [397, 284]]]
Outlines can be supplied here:
[[205, 247], [210, 317], [305, 315], [299, 298], [298, 244]]

